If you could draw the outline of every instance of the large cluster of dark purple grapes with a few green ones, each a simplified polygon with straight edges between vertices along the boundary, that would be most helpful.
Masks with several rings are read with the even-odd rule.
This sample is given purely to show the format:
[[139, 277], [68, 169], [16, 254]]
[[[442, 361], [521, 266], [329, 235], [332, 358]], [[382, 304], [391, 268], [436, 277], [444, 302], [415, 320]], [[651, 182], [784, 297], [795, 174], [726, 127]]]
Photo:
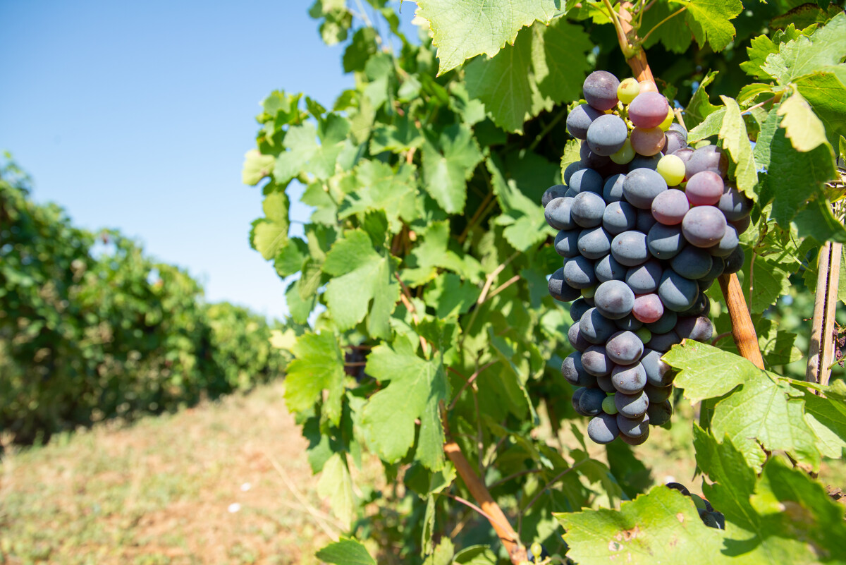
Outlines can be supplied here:
[[688, 146], [651, 81], [596, 71], [584, 96], [567, 118], [581, 159], [542, 198], [564, 257], [549, 292], [573, 301], [576, 351], [561, 370], [579, 387], [573, 407], [591, 417], [591, 440], [640, 445], [673, 414], [662, 354], [711, 339], [705, 291], [743, 266], [751, 203], [728, 182], [719, 148]]

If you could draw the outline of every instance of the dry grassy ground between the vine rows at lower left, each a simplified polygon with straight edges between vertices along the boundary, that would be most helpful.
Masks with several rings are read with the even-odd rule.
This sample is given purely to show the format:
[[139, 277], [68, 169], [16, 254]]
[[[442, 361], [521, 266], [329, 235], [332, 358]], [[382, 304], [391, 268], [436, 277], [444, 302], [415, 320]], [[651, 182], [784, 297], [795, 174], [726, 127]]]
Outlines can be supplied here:
[[316, 562], [327, 508], [282, 394], [272, 384], [9, 453], [0, 562]]

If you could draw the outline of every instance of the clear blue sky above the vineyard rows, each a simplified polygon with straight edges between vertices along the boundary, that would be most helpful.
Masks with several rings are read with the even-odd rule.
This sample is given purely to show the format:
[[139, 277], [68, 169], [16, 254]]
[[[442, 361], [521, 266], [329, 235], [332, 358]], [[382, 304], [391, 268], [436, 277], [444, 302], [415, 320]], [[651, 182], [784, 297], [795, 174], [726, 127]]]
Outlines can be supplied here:
[[240, 169], [271, 91], [331, 106], [353, 85], [311, 3], [0, 0], [0, 151], [76, 225], [138, 239], [210, 301], [281, 317], [283, 283], [247, 240], [261, 194]]

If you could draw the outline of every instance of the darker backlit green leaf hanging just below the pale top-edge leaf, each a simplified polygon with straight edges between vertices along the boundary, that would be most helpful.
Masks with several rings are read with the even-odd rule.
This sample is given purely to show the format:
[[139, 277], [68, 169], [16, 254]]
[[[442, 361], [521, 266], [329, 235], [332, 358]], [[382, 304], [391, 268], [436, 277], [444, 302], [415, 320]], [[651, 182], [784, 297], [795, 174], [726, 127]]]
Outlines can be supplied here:
[[520, 31], [514, 46], [495, 58], [475, 58], [465, 68], [470, 96], [485, 103], [494, 123], [508, 131], [523, 133], [523, 123], [548, 109], [537, 90], [532, 64], [532, 30]]

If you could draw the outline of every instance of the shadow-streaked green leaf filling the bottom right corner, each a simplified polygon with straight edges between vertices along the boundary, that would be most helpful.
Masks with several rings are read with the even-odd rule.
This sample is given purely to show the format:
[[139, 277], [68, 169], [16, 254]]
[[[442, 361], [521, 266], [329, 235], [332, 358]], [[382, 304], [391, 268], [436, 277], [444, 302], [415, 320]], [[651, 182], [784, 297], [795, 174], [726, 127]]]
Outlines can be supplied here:
[[846, 558], [843, 506], [822, 485], [773, 457], [760, 479], [726, 438], [722, 443], [694, 425], [696, 464], [715, 484], [703, 484], [711, 505], [726, 518], [722, 553], [732, 562], [818, 563]]

